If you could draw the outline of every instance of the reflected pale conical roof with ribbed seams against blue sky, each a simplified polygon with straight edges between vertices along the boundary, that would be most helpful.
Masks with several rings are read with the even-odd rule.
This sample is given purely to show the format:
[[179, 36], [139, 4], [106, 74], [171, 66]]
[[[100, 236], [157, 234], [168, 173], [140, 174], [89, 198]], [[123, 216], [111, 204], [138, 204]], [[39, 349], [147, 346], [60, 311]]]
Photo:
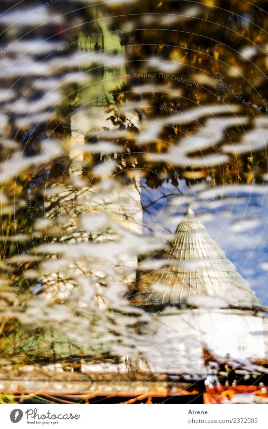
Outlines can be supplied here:
[[190, 295], [210, 295], [224, 297], [234, 306], [258, 305], [246, 280], [211, 239], [191, 208], [159, 254], [162, 265], [158, 264], [155, 270], [143, 269], [143, 263], [138, 266], [136, 303], [175, 304]]

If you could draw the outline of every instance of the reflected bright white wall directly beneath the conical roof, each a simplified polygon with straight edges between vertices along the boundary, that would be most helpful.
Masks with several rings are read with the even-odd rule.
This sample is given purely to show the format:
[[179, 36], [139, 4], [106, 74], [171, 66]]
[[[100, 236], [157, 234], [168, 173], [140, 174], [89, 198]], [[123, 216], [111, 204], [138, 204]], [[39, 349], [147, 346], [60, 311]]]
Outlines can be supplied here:
[[139, 349], [154, 372], [203, 373], [203, 347], [220, 357], [227, 354], [236, 359], [263, 357], [262, 329], [262, 318], [249, 312], [235, 314], [229, 309], [189, 309], [174, 315], [163, 312], [151, 316], [142, 328]]

